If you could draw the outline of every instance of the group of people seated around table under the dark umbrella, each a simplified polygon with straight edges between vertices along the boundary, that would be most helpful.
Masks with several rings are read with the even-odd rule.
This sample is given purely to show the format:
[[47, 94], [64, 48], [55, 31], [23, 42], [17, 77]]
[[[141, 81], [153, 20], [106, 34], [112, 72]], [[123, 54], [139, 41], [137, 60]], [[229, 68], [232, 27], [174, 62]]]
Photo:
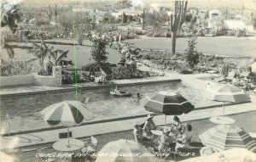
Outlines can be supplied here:
[[[158, 127], [154, 124], [153, 116], [148, 115], [143, 125], [135, 124], [133, 131], [135, 141], [139, 142], [138, 138], [141, 138], [147, 140], [150, 145], [156, 143], [158, 151], [161, 153], [169, 152], [171, 143], [175, 143], [176, 153], [180, 152], [181, 148], [188, 148], [192, 138], [192, 126], [183, 125], [177, 116], [174, 116], [173, 121], [172, 127], [165, 127], [159, 138], [152, 133], [152, 130], [157, 130]], [[170, 133], [174, 133], [176, 136], [169, 136]]]

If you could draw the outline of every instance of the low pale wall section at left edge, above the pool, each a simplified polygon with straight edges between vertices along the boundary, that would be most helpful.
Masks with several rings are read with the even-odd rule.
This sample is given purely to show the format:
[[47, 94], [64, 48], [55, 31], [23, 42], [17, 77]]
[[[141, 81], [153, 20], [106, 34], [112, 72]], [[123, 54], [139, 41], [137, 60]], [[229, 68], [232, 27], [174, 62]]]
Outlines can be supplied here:
[[1, 87], [34, 84], [34, 75], [1, 76]]

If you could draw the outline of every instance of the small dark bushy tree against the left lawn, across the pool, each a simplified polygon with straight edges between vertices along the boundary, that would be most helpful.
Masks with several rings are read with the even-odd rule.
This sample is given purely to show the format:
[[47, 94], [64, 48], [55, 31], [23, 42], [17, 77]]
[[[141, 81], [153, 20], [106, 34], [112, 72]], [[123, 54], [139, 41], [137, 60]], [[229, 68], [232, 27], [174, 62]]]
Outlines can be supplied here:
[[90, 55], [92, 56], [92, 59], [96, 61], [96, 64], [101, 66], [102, 63], [106, 62], [108, 59], [106, 56], [108, 54], [108, 52], [106, 52], [107, 42], [99, 37], [94, 37], [91, 41], [93, 42], [93, 45], [91, 47]]

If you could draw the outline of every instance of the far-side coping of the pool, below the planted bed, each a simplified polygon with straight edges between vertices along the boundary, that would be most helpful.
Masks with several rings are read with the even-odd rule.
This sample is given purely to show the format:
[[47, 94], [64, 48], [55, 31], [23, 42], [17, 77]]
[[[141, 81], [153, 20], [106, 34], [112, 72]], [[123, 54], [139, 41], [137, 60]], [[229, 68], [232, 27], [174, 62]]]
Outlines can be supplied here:
[[148, 78], [139, 79], [127, 79], [127, 80], [114, 80], [107, 85], [102, 85], [94, 82], [78, 83], [75, 84], [62, 85], [61, 87], [45, 87], [45, 86], [16, 86], [16, 87], [1, 87], [0, 98], [15, 97], [20, 95], [32, 95], [32, 94], [42, 94], [47, 92], [67, 92], [75, 91], [78, 87], [79, 90], [89, 90], [89, 89], [100, 89], [108, 87], [125, 87], [125, 86], [136, 86], [136, 85], [146, 85], [146, 84], [156, 84], [165, 82], [181, 82], [181, 79], [174, 78], [171, 76], [156, 76]]

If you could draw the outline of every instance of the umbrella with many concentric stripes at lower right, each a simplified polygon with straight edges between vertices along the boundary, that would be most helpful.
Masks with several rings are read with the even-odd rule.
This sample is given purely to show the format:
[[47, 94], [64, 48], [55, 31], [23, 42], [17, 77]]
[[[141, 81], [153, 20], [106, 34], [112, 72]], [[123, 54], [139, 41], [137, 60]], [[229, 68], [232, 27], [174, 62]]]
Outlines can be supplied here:
[[201, 142], [218, 151], [230, 148], [247, 148], [253, 151], [256, 142], [246, 131], [239, 126], [218, 125], [203, 132], [200, 136]]

